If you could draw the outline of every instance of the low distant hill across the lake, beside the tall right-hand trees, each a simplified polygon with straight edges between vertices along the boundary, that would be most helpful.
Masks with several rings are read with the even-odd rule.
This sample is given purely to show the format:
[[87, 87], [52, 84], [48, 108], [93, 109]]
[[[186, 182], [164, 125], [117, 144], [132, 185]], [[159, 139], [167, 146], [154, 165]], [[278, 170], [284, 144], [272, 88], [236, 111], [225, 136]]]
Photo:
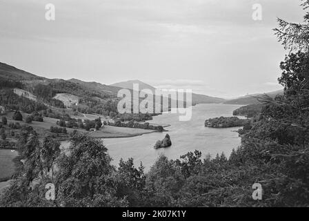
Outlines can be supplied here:
[[[255, 95], [246, 95], [243, 97], [239, 97], [237, 99], [230, 99], [223, 104], [239, 104], [239, 105], [249, 105], [249, 104], [259, 104], [260, 102], [257, 100], [257, 97], [262, 97], [264, 94], [255, 94]], [[275, 98], [277, 95], [283, 95], [283, 90], [276, 90], [270, 93], [266, 93], [266, 95]]]

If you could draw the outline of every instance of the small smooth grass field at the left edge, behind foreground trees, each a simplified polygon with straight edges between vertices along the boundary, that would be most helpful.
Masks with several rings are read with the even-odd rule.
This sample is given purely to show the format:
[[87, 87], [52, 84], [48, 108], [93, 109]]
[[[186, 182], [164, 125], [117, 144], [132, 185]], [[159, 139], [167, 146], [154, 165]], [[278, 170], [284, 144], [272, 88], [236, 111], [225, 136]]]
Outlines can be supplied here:
[[17, 151], [0, 149], [0, 178], [10, 177], [14, 173], [15, 166], [12, 160], [17, 155]]

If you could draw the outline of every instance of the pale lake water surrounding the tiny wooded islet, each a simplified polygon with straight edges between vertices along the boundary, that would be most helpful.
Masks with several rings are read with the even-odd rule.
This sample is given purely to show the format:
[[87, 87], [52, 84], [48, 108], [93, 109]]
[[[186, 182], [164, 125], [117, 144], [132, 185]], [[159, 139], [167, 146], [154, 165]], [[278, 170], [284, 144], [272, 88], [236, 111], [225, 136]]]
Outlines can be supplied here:
[[[132, 157], [136, 166], [143, 162], [146, 171], [161, 153], [174, 160], [188, 151], [195, 150], [201, 151], [203, 155], [210, 153], [215, 156], [224, 152], [228, 156], [232, 148], [237, 148], [240, 144], [238, 133], [233, 132], [238, 128], [206, 128], [204, 122], [212, 117], [230, 117], [232, 111], [237, 108], [239, 105], [199, 104], [192, 107], [192, 119], [188, 122], [179, 122], [179, 116], [171, 113], [159, 115], [150, 121], [155, 124], [170, 124], [171, 126], [166, 128], [168, 132], [130, 138], [110, 138], [104, 139], [103, 142], [113, 158], [112, 164], [118, 165], [121, 158], [126, 160]], [[170, 135], [172, 146], [154, 149], [155, 142], [162, 140], [166, 133]]]

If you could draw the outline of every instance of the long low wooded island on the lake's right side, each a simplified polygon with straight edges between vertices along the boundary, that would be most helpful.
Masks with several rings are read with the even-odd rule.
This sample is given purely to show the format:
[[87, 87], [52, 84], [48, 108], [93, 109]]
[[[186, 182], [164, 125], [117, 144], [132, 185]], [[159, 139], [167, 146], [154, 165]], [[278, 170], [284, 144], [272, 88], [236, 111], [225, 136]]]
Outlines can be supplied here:
[[245, 126], [250, 119], [239, 119], [238, 117], [216, 117], [206, 119], [205, 126], [211, 128], [229, 128], [237, 126]]

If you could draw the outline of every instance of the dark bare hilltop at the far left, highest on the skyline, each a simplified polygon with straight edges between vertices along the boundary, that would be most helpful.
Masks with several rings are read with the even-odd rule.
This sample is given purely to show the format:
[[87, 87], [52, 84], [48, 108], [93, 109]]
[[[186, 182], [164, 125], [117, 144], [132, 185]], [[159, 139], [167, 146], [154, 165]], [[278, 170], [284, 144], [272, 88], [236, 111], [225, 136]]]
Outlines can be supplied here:
[[19, 70], [14, 66], [4, 64], [0, 62], [0, 77], [11, 79], [15, 81], [32, 81], [32, 80], [44, 80], [45, 77], [39, 77], [33, 75], [24, 70]]

